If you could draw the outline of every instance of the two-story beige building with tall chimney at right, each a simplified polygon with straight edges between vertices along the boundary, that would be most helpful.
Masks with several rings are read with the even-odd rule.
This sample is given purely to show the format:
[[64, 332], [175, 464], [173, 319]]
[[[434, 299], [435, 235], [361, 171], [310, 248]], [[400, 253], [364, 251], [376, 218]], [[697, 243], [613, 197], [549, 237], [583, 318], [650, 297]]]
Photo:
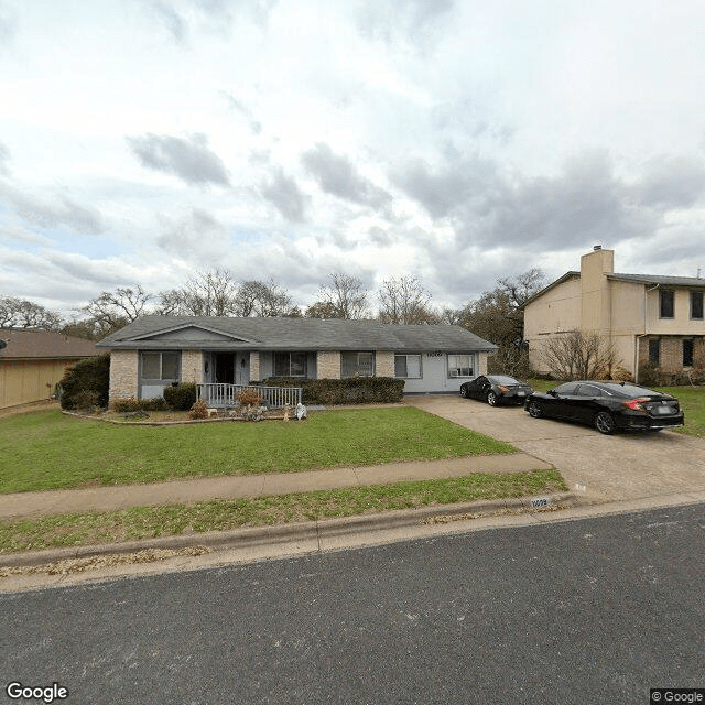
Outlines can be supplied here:
[[615, 252], [596, 246], [571, 271], [529, 300], [524, 339], [529, 359], [547, 372], [547, 340], [572, 330], [608, 338], [620, 365], [639, 380], [644, 366], [666, 375], [705, 367], [705, 279], [616, 274]]

